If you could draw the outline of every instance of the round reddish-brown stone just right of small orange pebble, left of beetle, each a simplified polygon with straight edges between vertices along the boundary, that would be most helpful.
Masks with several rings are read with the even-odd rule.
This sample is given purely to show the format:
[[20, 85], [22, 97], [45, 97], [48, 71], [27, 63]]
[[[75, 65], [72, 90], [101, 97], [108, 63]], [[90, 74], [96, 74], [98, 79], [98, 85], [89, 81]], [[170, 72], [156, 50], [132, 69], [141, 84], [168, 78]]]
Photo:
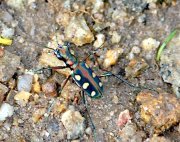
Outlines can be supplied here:
[[53, 80], [48, 80], [46, 83], [42, 85], [42, 91], [45, 93], [47, 96], [57, 96], [57, 91], [56, 91], [56, 83]]

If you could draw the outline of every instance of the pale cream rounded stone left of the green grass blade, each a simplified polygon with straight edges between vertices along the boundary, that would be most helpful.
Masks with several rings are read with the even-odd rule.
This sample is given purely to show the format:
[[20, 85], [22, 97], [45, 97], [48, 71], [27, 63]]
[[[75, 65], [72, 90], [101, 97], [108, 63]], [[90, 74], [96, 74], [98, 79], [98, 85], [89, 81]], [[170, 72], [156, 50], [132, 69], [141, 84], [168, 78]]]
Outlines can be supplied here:
[[144, 39], [141, 43], [141, 47], [147, 52], [156, 50], [159, 47], [159, 45], [160, 42], [153, 38]]

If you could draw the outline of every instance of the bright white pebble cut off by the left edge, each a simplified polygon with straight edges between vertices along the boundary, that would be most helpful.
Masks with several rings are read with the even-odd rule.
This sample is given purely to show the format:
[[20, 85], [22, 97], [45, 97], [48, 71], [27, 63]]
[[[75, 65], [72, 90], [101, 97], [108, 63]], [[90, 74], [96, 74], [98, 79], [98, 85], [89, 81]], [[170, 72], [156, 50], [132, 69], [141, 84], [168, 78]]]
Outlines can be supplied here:
[[0, 121], [4, 121], [7, 117], [11, 117], [13, 113], [14, 107], [8, 103], [3, 103], [0, 107]]

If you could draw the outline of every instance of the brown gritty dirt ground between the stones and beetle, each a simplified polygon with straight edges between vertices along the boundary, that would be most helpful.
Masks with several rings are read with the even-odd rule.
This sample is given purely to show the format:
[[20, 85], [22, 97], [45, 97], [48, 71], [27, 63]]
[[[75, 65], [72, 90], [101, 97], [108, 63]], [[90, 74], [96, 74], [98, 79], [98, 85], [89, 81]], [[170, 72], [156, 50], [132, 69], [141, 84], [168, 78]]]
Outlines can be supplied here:
[[[64, 2], [66, 2], [66, 0], [62, 0], [60, 4]], [[67, 3], [68, 2], [70, 2], [71, 7], [73, 7], [75, 3], [84, 6], [87, 11], [90, 11], [91, 15], [95, 0], [67, 0]], [[98, 33], [105, 35], [105, 44], [98, 52], [99, 59], [101, 57], [103, 59], [106, 58], [105, 53], [108, 50], [117, 48], [123, 49], [123, 53], [118, 57], [116, 63], [107, 67], [106, 70], [115, 74], [120, 73], [124, 77], [125, 74], [127, 74], [125, 68], [129, 66], [129, 62], [131, 61], [129, 56], [132, 47], [140, 47], [141, 42], [147, 38], [153, 38], [162, 43], [169, 33], [180, 23], [180, 1], [178, 0], [169, 3], [167, 1], [162, 3], [147, 3], [145, 0], [108, 0], [103, 2], [105, 3], [105, 8], [102, 12], [99, 12], [99, 15], [92, 14], [96, 20], [103, 21], [102, 23], [105, 27], [99, 31], [94, 30], [93, 26], [96, 22], [89, 14], [83, 13], [82, 11], [79, 13], [84, 15], [87, 25], [94, 36]], [[14, 34], [11, 37], [13, 43], [10, 46], [5, 46], [4, 50], [20, 57], [20, 65], [11, 77], [17, 82], [18, 77], [23, 75], [25, 70], [43, 67], [43, 65], [39, 64], [39, 58], [44, 49], [42, 45], [47, 45], [55, 33], [64, 35], [66, 27], [57, 23], [56, 18], [58, 14], [61, 13], [61, 10], [55, 7], [57, 6], [56, 1], [23, 1], [23, 4], [18, 8], [13, 7], [9, 3], [12, 4], [10, 0], [0, 1], [0, 20], [4, 22], [6, 26], [14, 29]], [[117, 14], [114, 12], [116, 10], [118, 11]], [[2, 16], [4, 15], [3, 13], [8, 13], [11, 18], [4, 21]], [[113, 14], [114, 16], [112, 16]], [[15, 26], [12, 26], [12, 23], [14, 23]], [[118, 43], [111, 41], [114, 31], [121, 36]], [[94, 50], [93, 43], [94, 40], [82, 46], [72, 43], [72, 50], [76, 52], [75, 55], [78, 57], [79, 61], [86, 58], [88, 53]], [[145, 70], [143, 69], [139, 75], [133, 77], [126, 76], [126, 79], [135, 85], [146, 85], [154, 89], [160, 88], [161, 92], [173, 94], [171, 85], [165, 83], [160, 76], [159, 66], [155, 61], [156, 51], [152, 52], [151, 59], [146, 59], [146, 55], [144, 55], [146, 52], [142, 50], [137, 57], [139, 56], [145, 59], [148, 67]], [[94, 56], [88, 59], [88, 63], [96, 74], [104, 73], [103, 64], [98, 64]], [[134, 72], [136, 71], [136, 69], [132, 69], [132, 72], [133, 70]], [[52, 80], [56, 78], [57, 80], [58, 76], [60, 77], [60, 83], [62, 83], [64, 79], [63, 75], [49, 70], [44, 71], [42, 74], [38, 74], [38, 76], [41, 85], [49, 78]], [[68, 102], [66, 102], [66, 99], [64, 99], [66, 101], [63, 100], [63, 102], [67, 103], [65, 110], [60, 113], [51, 111], [48, 117], [43, 115], [37, 122], [31, 119], [34, 112], [40, 108], [47, 109], [50, 102], [58, 98], [51, 95], [47, 96], [43, 91], [40, 93], [33, 93], [30, 91], [31, 94], [38, 95], [36, 101], [33, 95], [33, 97], [31, 96], [29, 98], [25, 106], [21, 106], [15, 101], [12, 101], [10, 104], [14, 107], [13, 116], [0, 122], [0, 141], [180, 141], [178, 123], [173, 124], [167, 130], [157, 134], [156, 136], [158, 136], [159, 139], [153, 139], [153, 137], [156, 137], [154, 135], [155, 132], [149, 129], [151, 128], [151, 126], [149, 126], [150, 124], [146, 124], [141, 119], [140, 104], [136, 101], [138, 93], [144, 90], [137, 90], [136, 88], [130, 87], [113, 76], [101, 78], [101, 81], [104, 85], [103, 97], [100, 99], [91, 99], [86, 96], [89, 113], [96, 128], [96, 137], [93, 136], [93, 132], [90, 134], [86, 132], [74, 138], [76, 140], [67, 139], [67, 130], [63, 126], [61, 120], [62, 114], [66, 110], [69, 110], [69, 108], [73, 107], [73, 109], [80, 112], [85, 118], [84, 127], [86, 131], [88, 131], [88, 127], [91, 127], [91, 122], [88, 118], [85, 105], [83, 104], [80, 89], [76, 85], [75, 88], [73, 88], [72, 85], [69, 95], [74, 97], [68, 100]], [[9, 88], [8, 82], [9, 80], [4, 82], [1, 81], [3, 85]], [[11, 91], [9, 89], [9, 91], [5, 93], [4, 102], [8, 102], [6, 98], [9, 93], [11, 93], [12, 96], [17, 94], [17, 83], [15, 84], [15, 87], [11, 89]], [[56, 88], [58, 89], [60, 84], [57, 82], [56, 84]], [[70, 80], [69, 86], [71, 86], [71, 84], [75, 84], [73, 80]], [[146, 89], [145, 91], [149, 90]], [[156, 92], [150, 92], [157, 95]], [[173, 96], [175, 95], [173, 94]], [[61, 99], [59, 101], [61, 102]], [[130, 112], [131, 122], [128, 122], [130, 123], [129, 129], [127, 128], [126, 131], [121, 131], [125, 126], [118, 126], [117, 121], [119, 114], [126, 109]], [[133, 127], [131, 127], [131, 124]], [[133, 133], [134, 135], [132, 136], [128, 133]]]

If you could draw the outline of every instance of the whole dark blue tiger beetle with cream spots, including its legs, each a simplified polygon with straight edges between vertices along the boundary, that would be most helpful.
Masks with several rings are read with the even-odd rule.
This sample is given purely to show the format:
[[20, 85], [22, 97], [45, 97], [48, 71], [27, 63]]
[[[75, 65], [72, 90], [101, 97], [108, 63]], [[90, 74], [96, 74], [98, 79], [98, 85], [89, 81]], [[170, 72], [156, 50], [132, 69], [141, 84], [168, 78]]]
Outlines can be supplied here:
[[[64, 69], [64, 68], [70, 68], [71, 74], [66, 78], [63, 85], [61, 86], [61, 91], [65, 87], [68, 80], [72, 77], [75, 83], [83, 90], [83, 92], [88, 95], [92, 99], [99, 99], [103, 96], [103, 83], [100, 80], [100, 77], [106, 77], [106, 76], [114, 76], [118, 80], [121, 80], [122, 82], [126, 83], [127, 85], [137, 88], [137, 89], [148, 89], [153, 90], [148, 87], [144, 86], [136, 86], [125, 80], [121, 75], [113, 74], [112, 72], [106, 72], [100, 76], [97, 76], [93, 70], [86, 64], [85, 60], [90, 56], [86, 57], [82, 62], [78, 61], [78, 59], [70, 52], [71, 45], [69, 42], [65, 42], [64, 45], [58, 44], [58, 47], [56, 49], [45, 47], [53, 51], [54, 55], [59, 59], [64, 61], [65, 66], [55, 66], [55, 67], [49, 67], [49, 68], [41, 68], [38, 70], [35, 70], [34, 72], [39, 72], [44, 69]], [[154, 91], [154, 90], [153, 90]], [[83, 96], [84, 96], [83, 93]], [[83, 97], [84, 98], [84, 97]], [[95, 126], [94, 123], [90, 117], [86, 99], [83, 99], [85, 103], [85, 107], [87, 110], [88, 117], [91, 121], [93, 134], [95, 136]], [[48, 108], [48, 113], [51, 111], [52, 107], [54, 106], [55, 100]]]

